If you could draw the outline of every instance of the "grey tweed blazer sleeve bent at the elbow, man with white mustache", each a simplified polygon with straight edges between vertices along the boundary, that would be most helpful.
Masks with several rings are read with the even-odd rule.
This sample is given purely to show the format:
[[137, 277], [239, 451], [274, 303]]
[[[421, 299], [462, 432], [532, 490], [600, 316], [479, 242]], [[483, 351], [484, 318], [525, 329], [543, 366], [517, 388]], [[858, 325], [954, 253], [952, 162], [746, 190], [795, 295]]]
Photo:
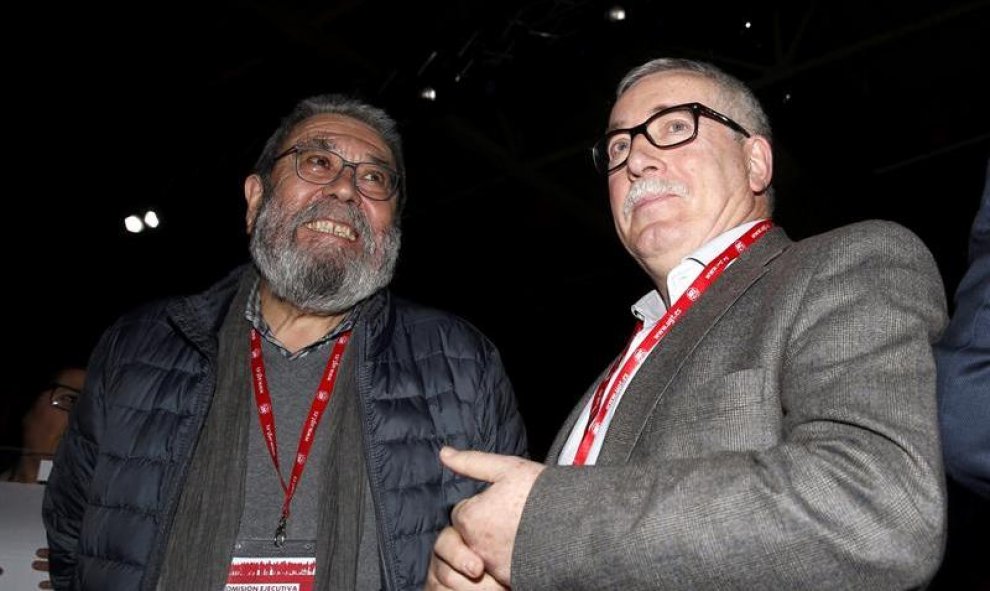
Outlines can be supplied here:
[[746, 358], [736, 351], [772, 349], [764, 367], [731, 367], [719, 383], [730, 407], [754, 387], [779, 403], [779, 415], [751, 417], [775, 422], [776, 439], [654, 454], [685, 428], [658, 419], [625, 463], [548, 466], [515, 540], [513, 589], [903, 589], [933, 576], [945, 531], [935, 262], [883, 223], [806, 241], [792, 260], [786, 281], [747, 302], [765, 321], [745, 340], [684, 361], [715, 380]]

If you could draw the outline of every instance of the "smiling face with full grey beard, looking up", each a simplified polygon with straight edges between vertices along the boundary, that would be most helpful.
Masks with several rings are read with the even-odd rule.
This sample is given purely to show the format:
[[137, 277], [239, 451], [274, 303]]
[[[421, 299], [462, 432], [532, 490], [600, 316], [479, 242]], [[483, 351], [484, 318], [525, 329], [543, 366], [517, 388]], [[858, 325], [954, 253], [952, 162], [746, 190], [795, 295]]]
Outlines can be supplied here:
[[[321, 114], [297, 125], [283, 146], [324, 147], [351, 162], [395, 167], [381, 136], [364, 123]], [[296, 174], [295, 155], [279, 159], [270, 178], [245, 181], [251, 254], [272, 291], [300, 310], [336, 314], [384, 287], [398, 259], [396, 198], [373, 201], [345, 168], [327, 185]]]

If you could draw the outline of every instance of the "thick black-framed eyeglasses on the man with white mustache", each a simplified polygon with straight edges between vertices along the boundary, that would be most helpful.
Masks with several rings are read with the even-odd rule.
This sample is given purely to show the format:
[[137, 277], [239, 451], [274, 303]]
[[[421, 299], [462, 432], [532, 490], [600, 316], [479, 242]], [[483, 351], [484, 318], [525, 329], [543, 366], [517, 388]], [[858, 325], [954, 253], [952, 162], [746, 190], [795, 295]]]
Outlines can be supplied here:
[[669, 150], [690, 143], [698, 137], [698, 119], [702, 116], [714, 119], [733, 131], [750, 137], [742, 125], [701, 103], [674, 105], [657, 111], [635, 127], [613, 129], [591, 148], [595, 168], [602, 174], [611, 174], [622, 167], [629, 158], [633, 139], [643, 134], [654, 146]]

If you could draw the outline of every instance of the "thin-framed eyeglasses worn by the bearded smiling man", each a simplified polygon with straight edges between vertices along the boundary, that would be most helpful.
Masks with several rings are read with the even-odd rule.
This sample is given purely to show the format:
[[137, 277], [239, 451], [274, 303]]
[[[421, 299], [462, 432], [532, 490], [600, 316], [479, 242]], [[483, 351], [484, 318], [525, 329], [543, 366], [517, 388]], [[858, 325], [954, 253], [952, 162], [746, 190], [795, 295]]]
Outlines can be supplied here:
[[275, 161], [294, 154], [296, 175], [317, 185], [329, 185], [345, 168], [354, 169], [351, 182], [357, 192], [372, 201], [388, 201], [399, 188], [399, 173], [377, 162], [351, 162], [336, 152], [311, 146], [292, 146]]

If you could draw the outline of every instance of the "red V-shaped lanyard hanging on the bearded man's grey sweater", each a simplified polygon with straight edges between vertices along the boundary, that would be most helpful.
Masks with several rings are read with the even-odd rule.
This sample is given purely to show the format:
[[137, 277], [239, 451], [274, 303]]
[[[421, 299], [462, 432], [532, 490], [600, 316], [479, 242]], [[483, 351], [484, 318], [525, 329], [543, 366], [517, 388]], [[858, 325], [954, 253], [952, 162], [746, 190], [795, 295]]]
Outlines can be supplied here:
[[268, 453], [272, 456], [272, 463], [275, 464], [275, 472], [278, 480], [282, 484], [282, 492], [285, 493], [285, 501], [282, 503], [282, 517], [279, 519], [278, 527], [275, 529], [275, 545], [281, 547], [285, 544], [285, 524], [289, 519], [289, 505], [292, 504], [292, 496], [296, 494], [296, 485], [302, 478], [303, 468], [306, 467], [306, 459], [309, 457], [309, 449], [313, 446], [313, 437], [316, 434], [316, 427], [323, 418], [323, 411], [330, 403], [333, 396], [333, 386], [337, 381], [337, 369], [340, 367], [340, 358], [344, 354], [347, 341], [351, 338], [351, 331], [343, 332], [337, 337], [337, 342], [330, 352], [330, 359], [327, 361], [327, 368], [323, 370], [323, 378], [316, 388], [313, 396], [313, 403], [309, 407], [309, 415], [303, 423], [302, 432], [299, 434], [299, 447], [296, 448], [296, 461], [292, 463], [292, 473], [289, 475], [289, 483], [285, 483], [282, 477], [282, 470], [278, 464], [278, 443], [275, 439], [275, 413], [272, 410], [272, 397], [268, 392], [268, 380], [265, 379], [265, 360], [261, 354], [261, 335], [256, 329], [251, 329], [251, 380], [254, 385], [254, 401], [258, 409], [258, 421], [261, 423], [261, 433], [265, 437], [265, 444], [268, 446]]

